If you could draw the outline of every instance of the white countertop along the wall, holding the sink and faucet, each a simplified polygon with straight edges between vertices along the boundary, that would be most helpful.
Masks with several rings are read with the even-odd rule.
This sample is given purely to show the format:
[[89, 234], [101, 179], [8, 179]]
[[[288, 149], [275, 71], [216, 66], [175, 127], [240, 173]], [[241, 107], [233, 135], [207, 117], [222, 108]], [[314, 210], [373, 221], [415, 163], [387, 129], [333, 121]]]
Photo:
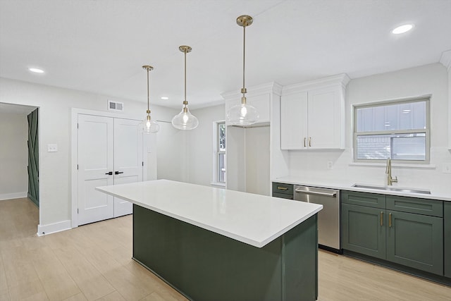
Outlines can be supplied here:
[[[350, 190], [350, 191], [360, 191], [360, 192], [371, 192], [378, 193], [381, 195], [400, 195], [402, 197], [418, 197], [421, 199], [439, 199], [443, 201], [451, 201], [451, 183], [447, 188], [431, 188], [431, 194], [424, 193], [412, 193], [404, 191], [393, 191], [393, 190], [382, 190], [382, 189], [370, 189], [370, 188], [357, 188], [353, 187], [354, 184], [359, 185], [372, 185], [378, 187], [385, 187], [384, 185], [375, 185], [373, 183], [365, 183], [364, 181], [352, 181], [344, 179], [330, 179], [330, 178], [315, 178], [309, 176], [285, 176], [281, 178], [276, 178], [272, 180], [273, 182], [288, 183], [294, 185], [305, 185], [319, 188], [332, 188], [338, 190]], [[424, 190], [424, 188], [412, 188], [412, 187], [402, 187], [399, 185], [386, 186], [388, 188], [400, 188], [400, 189], [419, 189]]]

